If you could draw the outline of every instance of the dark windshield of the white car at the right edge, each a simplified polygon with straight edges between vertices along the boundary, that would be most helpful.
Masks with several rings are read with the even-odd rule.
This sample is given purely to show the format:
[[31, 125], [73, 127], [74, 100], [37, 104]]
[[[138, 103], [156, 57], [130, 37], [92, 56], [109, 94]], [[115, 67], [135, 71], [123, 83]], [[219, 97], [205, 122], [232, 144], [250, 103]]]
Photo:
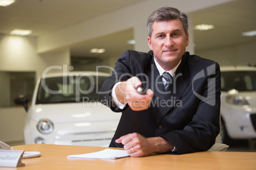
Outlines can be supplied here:
[[222, 72], [222, 91], [236, 89], [238, 91], [256, 90], [256, 71]]

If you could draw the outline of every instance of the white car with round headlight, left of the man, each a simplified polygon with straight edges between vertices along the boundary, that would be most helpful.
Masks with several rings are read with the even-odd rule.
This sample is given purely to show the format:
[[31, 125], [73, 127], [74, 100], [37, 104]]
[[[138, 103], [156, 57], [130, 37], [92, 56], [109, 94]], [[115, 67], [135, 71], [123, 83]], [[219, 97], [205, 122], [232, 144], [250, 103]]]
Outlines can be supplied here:
[[27, 110], [25, 144], [46, 143], [108, 147], [120, 113], [97, 101], [97, 92], [109, 74], [69, 72], [46, 74], [36, 83]]

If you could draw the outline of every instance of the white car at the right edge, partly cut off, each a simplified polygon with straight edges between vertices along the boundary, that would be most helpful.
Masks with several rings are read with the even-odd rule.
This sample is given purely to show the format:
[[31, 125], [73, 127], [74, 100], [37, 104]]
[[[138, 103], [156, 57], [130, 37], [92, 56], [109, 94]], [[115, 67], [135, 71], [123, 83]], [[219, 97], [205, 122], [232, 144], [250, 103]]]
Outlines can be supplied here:
[[222, 143], [256, 139], [256, 68], [221, 67]]

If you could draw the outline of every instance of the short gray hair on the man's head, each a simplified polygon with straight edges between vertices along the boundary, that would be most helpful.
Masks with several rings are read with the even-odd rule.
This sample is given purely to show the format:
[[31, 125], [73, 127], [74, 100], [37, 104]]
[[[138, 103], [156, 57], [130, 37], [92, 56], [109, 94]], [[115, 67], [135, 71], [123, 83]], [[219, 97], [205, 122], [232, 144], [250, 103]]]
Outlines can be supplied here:
[[172, 7], [162, 7], [159, 8], [148, 17], [148, 21], [146, 22], [146, 27], [148, 29], [148, 37], [151, 38], [153, 31], [153, 23], [155, 21], [170, 21], [180, 19], [183, 29], [185, 30], [185, 34], [188, 33], [188, 18], [187, 15], [176, 8]]

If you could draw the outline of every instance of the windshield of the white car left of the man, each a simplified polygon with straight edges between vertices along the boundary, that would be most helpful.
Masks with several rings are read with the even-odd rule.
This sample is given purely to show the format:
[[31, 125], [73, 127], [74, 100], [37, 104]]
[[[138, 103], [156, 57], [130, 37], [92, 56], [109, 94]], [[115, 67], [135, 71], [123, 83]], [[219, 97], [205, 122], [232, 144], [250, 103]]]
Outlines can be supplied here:
[[105, 76], [79, 75], [41, 79], [36, 104], [97, 101]]

